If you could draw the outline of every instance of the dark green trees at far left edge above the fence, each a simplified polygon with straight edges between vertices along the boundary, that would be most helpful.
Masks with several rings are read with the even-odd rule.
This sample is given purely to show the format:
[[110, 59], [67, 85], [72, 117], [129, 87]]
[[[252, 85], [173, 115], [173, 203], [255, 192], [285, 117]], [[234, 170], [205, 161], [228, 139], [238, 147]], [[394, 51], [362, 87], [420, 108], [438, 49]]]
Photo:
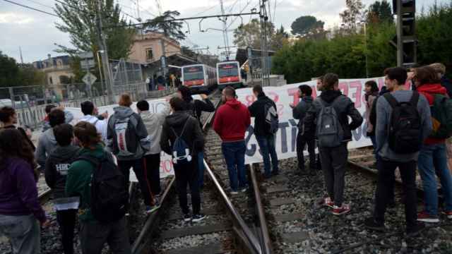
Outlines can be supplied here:
[[0, 87], [44, 85], [45, 74], [30, 64], [18, 64], [0, 51]]

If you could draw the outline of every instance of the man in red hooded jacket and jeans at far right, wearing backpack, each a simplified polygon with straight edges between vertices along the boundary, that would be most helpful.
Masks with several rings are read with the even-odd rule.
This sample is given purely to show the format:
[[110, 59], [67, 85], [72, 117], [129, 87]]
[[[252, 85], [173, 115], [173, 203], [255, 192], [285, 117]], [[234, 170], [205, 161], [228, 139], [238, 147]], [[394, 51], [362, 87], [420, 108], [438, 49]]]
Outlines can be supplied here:
[[[439, 222], [438, 184], [441, 182], [444, 195], [444, 214], [452, 219], [452, 176], [447, 166], [446, 139], [451, 137], [452, 101], [448, 99], [446, 87], [441, 86], [434, 68], [424, 66], [415, 68], [413, 81], [417, 92], [427, 98], [432, 114], [433, 131], [424, 140], [417, 160], [417, 169], [424, 187], [425, 210], [417, 214], [421, 222]], [[446, 116], [446, 117], [442, 117]], [[447, 127], [449, 126], [449, 127]]]

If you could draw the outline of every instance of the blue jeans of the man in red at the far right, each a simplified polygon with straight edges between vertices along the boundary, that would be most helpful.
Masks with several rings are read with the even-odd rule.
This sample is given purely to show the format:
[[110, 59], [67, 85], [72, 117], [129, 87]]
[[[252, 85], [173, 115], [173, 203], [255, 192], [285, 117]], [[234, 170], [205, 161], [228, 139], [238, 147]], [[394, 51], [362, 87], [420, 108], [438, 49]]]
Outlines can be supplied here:
[[424, 187], [425, 210], [430, 215], [438, 214], [438, 187], [436, 174], [444, 193], [445, 210], [452, 211], [452, 176], [447, 166], [446, 145], [422, 145], [417, 168]]

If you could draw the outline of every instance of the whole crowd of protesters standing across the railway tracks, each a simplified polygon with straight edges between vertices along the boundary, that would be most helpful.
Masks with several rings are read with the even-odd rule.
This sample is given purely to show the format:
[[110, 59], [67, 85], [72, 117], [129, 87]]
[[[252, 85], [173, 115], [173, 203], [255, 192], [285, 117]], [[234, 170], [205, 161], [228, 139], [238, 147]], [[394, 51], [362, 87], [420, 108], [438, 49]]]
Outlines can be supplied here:
[[[326, 196], [323, 205], [337, 216], [352, 210], [344, 200], [345, 171], [352, 131], [366, 121], [378, 169], [372, 216], [364, 226], [383, 231], [387, 207], [394, 198], [395, 171], [403, 182], [406, 231], [422, 229], [420, 222], [437, 223], [437, 179], [444, 195], [442, 212], [452, 219], [452, 92], [441, 63], [412, 68], [387, 68], [384, 86], [369, 80], [364, 85], [364, 119], [355, 103], [339, 89], [339, 77], [326, 73], [316, 79], [316, 91], [300, 85], [297, 104], [290, 104], [298, 119], [297, 159], [302, 176], [323, 171]], [[412, 87], [412, 89], [410, 89]], [[263, 179], [280, 173], [275, 137], [278, 109], [261, 85], [249, 107], [237, 99], [232, 87], [222, 90], [222, 106], [213, 130], [222, 140], [222, 154], [230, 178], [230, 194], [249, 187], [245, 169], [245, 133], [254, 118], [253, 133], [263, 157]], [[313, 97], [313, 93], [318, 95]], [[129, 214], [129, 175], [133, 169], [143, 196], [145, 214], [160, 207], [160, 155], [172, 157], [179, 205], [184, 222], [201, 222], [204, 137], [201, 113], [215, 111], [206, 95], [193, 99], [179, 86], [159, 112], [150, 111], [121, 95], [114, 114], [99, 114], [93, 102], [81, 104], [83, 118], [71, 126], [73, 115], [49, 105], [37, 146], [29, 130], [16, 127], [11, 107], [0, 109], [0, 234], [11, 242], [13, 253], [40, 253], [40, 225], [49, 223], [38, 200], [40, 171], [52, 189], [54, 210], [64, 253], [74, 252], [78, 220], [82, 253], [101, 253], [105, 243], [112, 253], [130, 253], [126, 216]], [[309, 167], [305, 164], [307, 147]], [[316, 156], [316, 148], [319, 150]], [[417, 211], [416, 174], [424, 188], [424, 210]], [[187, 200], [187, 186], [191, 209]], [[319, 193], [320, 194], [320, 193]]]

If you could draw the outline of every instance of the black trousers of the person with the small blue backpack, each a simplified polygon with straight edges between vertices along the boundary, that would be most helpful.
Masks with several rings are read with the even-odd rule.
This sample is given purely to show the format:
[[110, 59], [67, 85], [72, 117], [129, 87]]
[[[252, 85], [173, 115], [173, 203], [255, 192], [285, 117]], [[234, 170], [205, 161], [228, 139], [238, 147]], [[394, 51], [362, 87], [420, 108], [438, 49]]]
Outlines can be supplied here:
[[198, 182], [198, 157], [193, 157], [188, 164], [174, 164], [174, 174], [176, 175], [177, 195], [179, 195], [179, 205], [182, 212], [184, 214], [190, 212], [186, 198], [186, 186], [189, 185], [193, 214], [199, 214], [201, 210], [201, 195]]

